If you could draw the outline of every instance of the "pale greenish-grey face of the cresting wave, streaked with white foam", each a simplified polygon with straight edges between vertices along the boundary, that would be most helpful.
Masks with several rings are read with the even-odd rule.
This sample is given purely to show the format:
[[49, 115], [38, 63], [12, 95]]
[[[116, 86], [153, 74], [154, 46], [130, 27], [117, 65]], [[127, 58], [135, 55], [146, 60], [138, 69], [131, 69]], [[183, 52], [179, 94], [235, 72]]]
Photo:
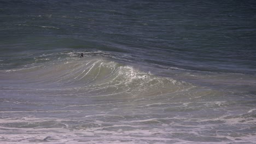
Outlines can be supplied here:
[[[160, 97], [194, 86], [159, 77], [108, 58], [83, 57], [49, 62], [31, 68], [3, 70], [3, 89], [29, 89], [63, 97], [133, 100]], [[106, 103], [106, 101], [104, 101]]]

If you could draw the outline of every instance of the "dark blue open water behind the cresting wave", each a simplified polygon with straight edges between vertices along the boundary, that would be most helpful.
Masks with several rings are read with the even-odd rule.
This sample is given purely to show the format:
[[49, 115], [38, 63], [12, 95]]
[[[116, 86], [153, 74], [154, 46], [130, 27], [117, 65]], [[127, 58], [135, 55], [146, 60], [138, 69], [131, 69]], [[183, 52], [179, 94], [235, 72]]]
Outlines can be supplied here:
[[184, 69], [254, 73], [255, 12], [253, 1], [3, 1], [1, 41], [7, 53], [93, 49]]

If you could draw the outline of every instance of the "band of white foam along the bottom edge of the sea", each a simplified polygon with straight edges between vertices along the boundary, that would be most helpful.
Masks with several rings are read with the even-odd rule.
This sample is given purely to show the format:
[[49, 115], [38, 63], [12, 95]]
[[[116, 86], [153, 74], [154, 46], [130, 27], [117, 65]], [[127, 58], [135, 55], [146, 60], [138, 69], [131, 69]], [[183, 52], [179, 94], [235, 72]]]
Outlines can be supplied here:
[[[102, 122], [100, 122], [102, 123]], [[112, 125], [111, 127], [117, 127], [117, 130], [104, 130], [111, 127], [101, 128], [88, 128], [68, 130], [63, 128], [26, 128], [15, 130], [7, 128], [8, 131], [13, 131], [13, 134], [7, 134], [0, 130], [2, 135], [0, 136], [1, 143], [254, 143], [256, 142], [254, 135], [248, 135], [243, 137], [232, 136], [210, 136], [210, 141], [191, 141], [185, 140], [189, 137], [181, 137], [182, 135], [188, 136], [200, 136], [203, 139], [207, 139], [207, 136], [197, 134], [196, 130], [189, 129], [189, 131], [182, 131], [182, 129], [173, 129], [168, 131], [165, 129], [168, 125], [163, 125], [162, 128], [139, 128], [134, 127], [133, 130], [124, 130], [129, 125]], [[168, 128], [168, 127], [167, 127]], [[185, 130], [185, 129], [184, 129]], [[192, 131], [191, 131], [192, 130]], [[6, 130], [5, 130], [6, 131]], [[178, 136], [178, 137], [173, 137]], [[223, 141], [213, 142], [211, 139], [220, 139]]]

